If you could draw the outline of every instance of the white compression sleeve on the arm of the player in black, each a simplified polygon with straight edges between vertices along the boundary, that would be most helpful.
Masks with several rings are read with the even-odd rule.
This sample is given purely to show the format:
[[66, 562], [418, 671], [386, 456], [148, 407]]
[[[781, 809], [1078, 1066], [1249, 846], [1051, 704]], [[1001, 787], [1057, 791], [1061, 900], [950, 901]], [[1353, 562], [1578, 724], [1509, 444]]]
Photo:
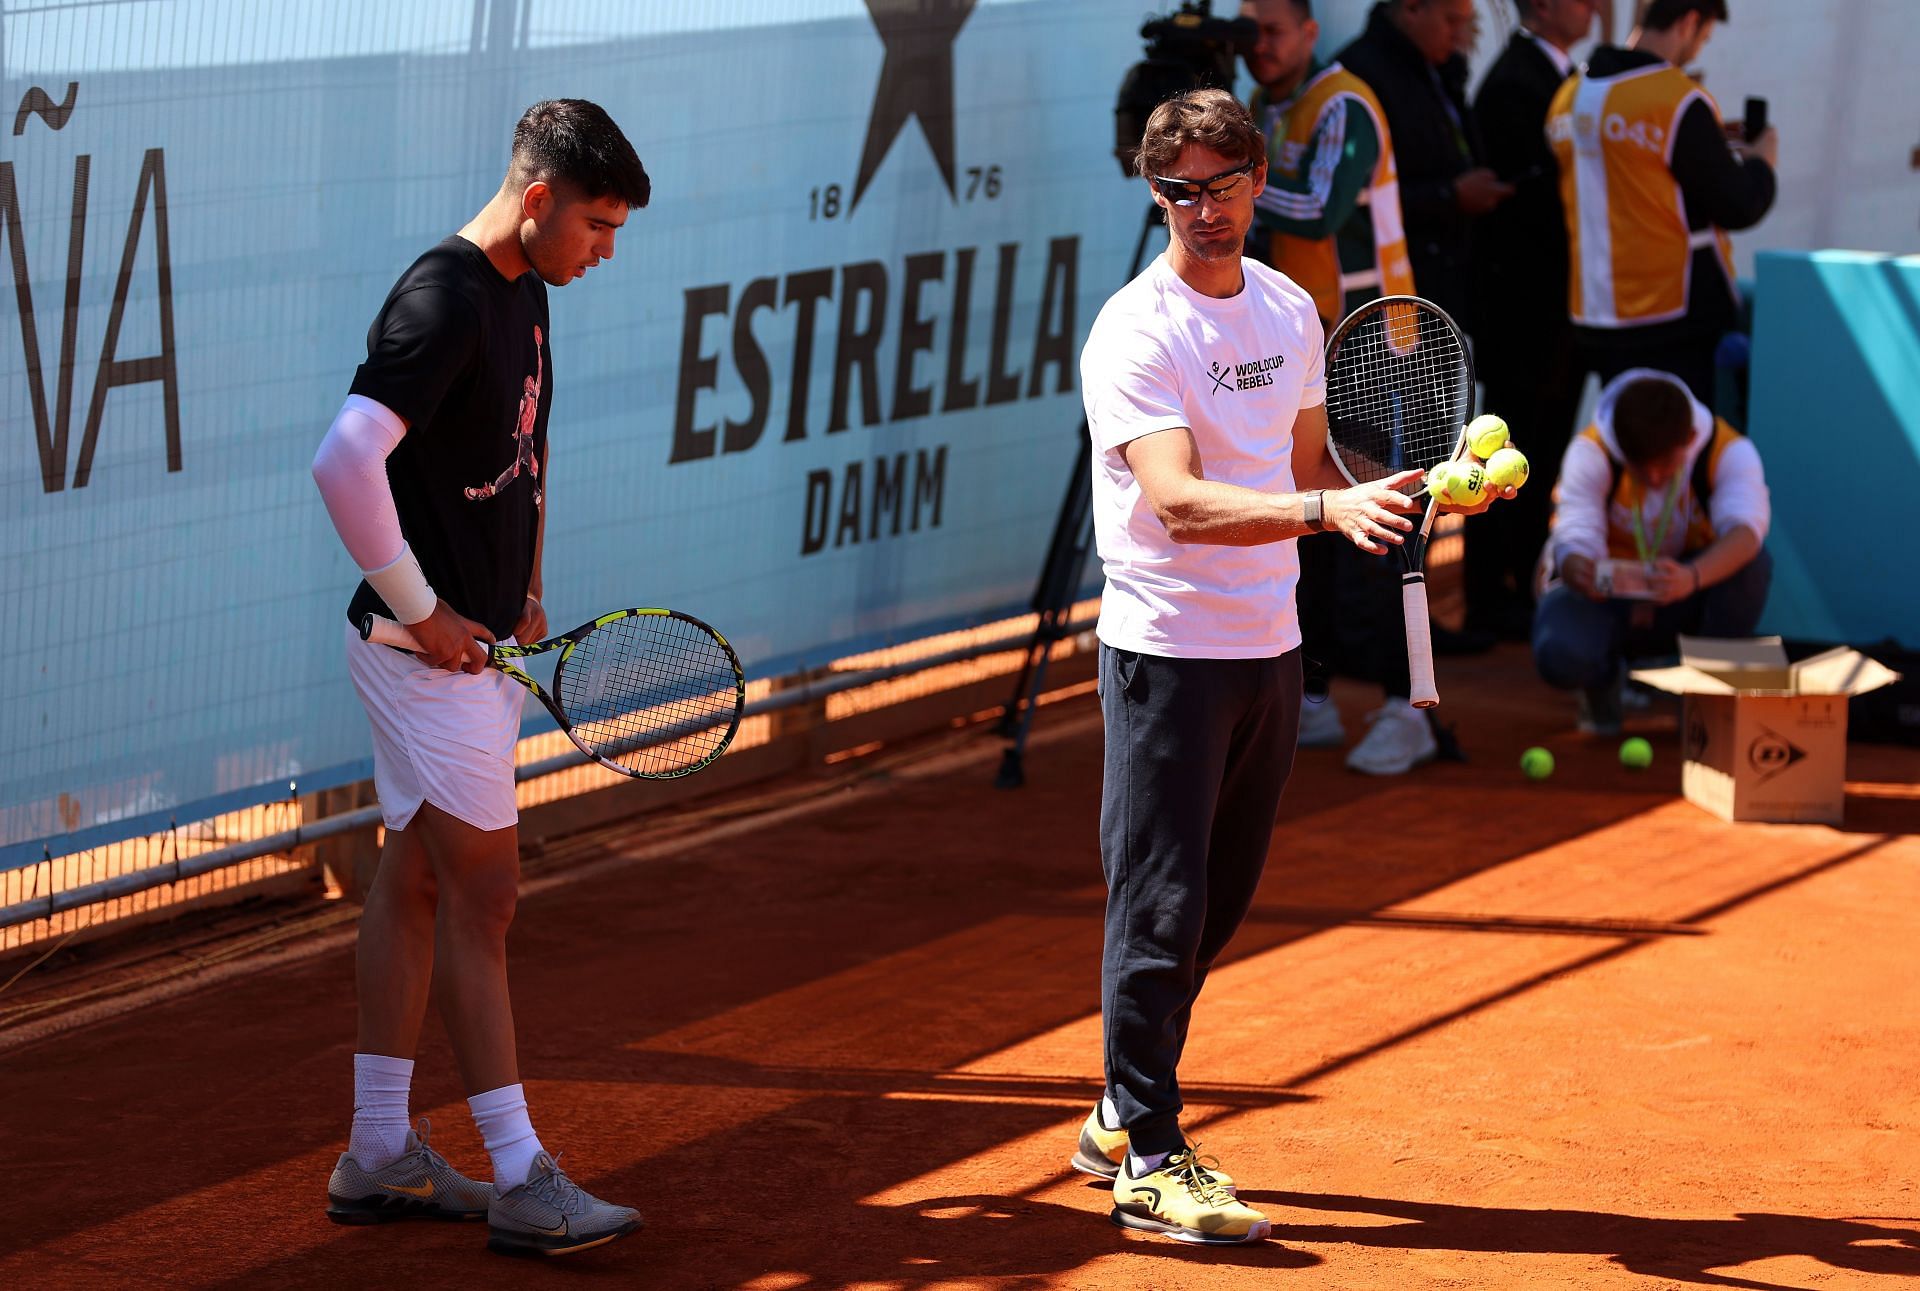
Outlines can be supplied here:
[[386, 459], [405, 434], [407, 423], [394, 409], [349, 394], [313, 455], [313, 482], [367, 582], [401, 622], [419, 622], [434, 613], [436, 597], [399, 532], [386, 482]]

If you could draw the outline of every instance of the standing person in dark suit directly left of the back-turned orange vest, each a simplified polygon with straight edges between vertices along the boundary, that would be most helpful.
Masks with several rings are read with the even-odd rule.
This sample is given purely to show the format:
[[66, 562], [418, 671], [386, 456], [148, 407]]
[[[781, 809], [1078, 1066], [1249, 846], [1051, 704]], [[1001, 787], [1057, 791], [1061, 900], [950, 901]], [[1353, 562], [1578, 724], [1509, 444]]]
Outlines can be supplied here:
[[1553, 92], [1572, 73], [1572, 46], [1594, 27], [1597, 0], [1513, 0], [1521, 29], [1480, 83], [1473, 115], [1486, 163], [1513, 198], [1473, 232], [1475, 367], [1486, 411], [1536, 448], [1530, 488], [1511, 507], [1467, 526], [1467, 626], [1524, 642], [1532, 571], [1548, 540], [1559, 465], [1586, 377], [1567, 317], [1567, 213], [1548, 148]]

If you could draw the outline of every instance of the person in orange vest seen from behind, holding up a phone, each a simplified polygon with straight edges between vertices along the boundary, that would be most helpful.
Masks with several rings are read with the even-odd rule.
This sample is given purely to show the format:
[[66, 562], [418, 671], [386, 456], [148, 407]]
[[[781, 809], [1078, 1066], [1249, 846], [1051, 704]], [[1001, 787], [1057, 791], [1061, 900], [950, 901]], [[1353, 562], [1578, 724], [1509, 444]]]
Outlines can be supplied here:
[[[1713, 355], [1738, 317], [1728, 229], [1774, 204], [1778, 136], [1732, 142], [1684, 67], [1726, 0], [1651, 0], [1628, 48], [1599, 46], [1553, 96], [1548, 136], [1574, 248], [1569, 307], [1582, 359], [1713, 398]], [[1419, 261], [1415, 261], [1419, 263]]]

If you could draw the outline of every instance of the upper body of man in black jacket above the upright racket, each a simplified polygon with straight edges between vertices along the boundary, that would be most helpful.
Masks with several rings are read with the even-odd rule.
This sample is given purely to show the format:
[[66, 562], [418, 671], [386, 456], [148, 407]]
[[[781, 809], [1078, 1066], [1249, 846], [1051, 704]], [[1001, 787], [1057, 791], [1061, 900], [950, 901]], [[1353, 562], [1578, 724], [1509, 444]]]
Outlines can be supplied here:
[[1480, 163], [1457, 52], [1471, 33], [1473, 0], [1382, 0], [1338, 60], [1373, 88], [1386, 113], [1421, 296], [1469, 329], [1473, 219], [1513, 194]]

